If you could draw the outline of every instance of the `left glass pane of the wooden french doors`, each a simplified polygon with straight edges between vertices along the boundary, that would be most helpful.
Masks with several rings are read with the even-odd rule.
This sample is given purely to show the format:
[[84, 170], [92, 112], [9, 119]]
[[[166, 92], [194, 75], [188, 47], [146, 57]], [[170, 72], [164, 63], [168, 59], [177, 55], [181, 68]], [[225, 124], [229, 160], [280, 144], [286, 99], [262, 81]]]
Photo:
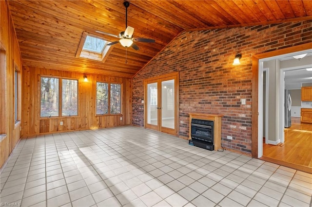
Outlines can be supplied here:
[[147, 84], [147, 123], [157, 125], [157, 83]]

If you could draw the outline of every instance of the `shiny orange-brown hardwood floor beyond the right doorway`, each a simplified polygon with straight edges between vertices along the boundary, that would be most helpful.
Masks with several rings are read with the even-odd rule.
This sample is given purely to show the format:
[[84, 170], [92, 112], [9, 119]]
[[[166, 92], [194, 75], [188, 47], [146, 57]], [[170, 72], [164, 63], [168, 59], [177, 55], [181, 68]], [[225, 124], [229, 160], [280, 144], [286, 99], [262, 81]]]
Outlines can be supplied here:
[[292, 126], [284, 129], [284, 145], [263, 143], [261, 159], [312, 173], [312, 124], [295, 119]]

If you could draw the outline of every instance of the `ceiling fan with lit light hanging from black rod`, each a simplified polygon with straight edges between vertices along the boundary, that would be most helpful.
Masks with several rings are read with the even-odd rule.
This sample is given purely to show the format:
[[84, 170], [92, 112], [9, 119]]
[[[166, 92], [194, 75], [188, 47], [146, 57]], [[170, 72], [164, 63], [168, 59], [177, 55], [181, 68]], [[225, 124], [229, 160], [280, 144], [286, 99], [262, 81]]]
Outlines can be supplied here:
[[123, 5], [126, 7], [126, 30], [124, 32], [120, 32], [119, 35], [113, 35], [113, 34], [105, 33], [102, 31], [96, 31], [97, 33], [110, 35], [110, 36], [119, 38], [118, 41], [111, 42], [107, 45], [115, 45], [119, 42], [125, 48], [132, 47], [135, 50], [139, 50], [139, 48], [134, 42], [155, 42], [155, 39], [147, 39], [147, 38], [140, 38], [140, 37], [135, 38], [132, 36], [135, 29], [133, 27], [127, 26], [127, 14], [128, 14], [127, 10], [128, 10], [130, 3], [128, 1], [124, 1]]

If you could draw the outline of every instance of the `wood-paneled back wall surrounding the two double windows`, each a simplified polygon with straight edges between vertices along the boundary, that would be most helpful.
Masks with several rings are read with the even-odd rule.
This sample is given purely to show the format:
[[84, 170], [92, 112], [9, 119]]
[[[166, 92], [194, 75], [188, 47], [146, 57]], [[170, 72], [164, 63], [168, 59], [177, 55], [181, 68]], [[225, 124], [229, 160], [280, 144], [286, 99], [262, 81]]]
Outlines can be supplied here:
[[[23, 67], [22, 136], [97, 129], [132, 123], [132, 86], [130, 78], [86, 74], [62, 70]], [[78, 116], [40, 118], [40, 75], [78, 79]], [[118, 83], [122, 86], [121, 114], [96, 116], [96, 83]], [[63, 125], [60, 125], [63, 121]]]

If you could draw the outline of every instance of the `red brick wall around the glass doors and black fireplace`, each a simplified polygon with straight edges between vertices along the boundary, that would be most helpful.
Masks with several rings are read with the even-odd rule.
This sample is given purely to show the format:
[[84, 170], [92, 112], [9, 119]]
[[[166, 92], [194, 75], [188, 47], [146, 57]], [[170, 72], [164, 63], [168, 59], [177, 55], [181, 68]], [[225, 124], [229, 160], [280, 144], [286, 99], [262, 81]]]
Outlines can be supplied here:
[[251, 153], [252, 55], [307, 42], [311, 20], [183, 32], [133, 78], [133, 124], [144, 125], [143, 80], [179, 71], [179, 135], [189, 136], [189, 113], [222, 114], [222, 146]]

